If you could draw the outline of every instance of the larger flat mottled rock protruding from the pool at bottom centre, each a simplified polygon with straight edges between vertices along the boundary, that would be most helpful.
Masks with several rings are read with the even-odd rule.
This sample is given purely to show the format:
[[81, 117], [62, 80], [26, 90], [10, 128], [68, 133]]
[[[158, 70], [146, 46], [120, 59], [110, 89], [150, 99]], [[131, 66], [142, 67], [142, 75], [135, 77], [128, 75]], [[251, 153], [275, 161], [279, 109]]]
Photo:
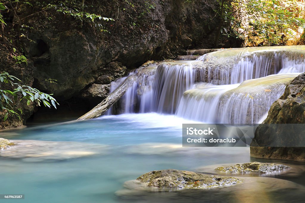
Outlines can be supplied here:
[[242, 182], [235, 177], [213, 176], [184, 170], [158, 170], [145, 173], [138, 177], [148, 187], [168, 189], [202, 189], [236, 185]]

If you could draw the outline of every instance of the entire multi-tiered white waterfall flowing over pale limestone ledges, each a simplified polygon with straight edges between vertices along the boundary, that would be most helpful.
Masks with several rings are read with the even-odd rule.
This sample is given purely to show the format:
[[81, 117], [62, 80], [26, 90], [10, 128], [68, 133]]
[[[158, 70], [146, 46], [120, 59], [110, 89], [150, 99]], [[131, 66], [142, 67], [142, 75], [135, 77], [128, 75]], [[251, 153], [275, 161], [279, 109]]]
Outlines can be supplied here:
[[[141, 82], [134, 82], [108, 112], [176, 114], [206, 123], [257, 123], [298, 75], [284, 73], [305, 71], [303, 55], [281, 51], [284, 48], [226, 49], [195, 61], [149, 65], [146, 68], [154, 70], [150, 72], [139, 68], [131, 75], [141, 75]], [[112, 82], [111, 90], [123, 80]]]

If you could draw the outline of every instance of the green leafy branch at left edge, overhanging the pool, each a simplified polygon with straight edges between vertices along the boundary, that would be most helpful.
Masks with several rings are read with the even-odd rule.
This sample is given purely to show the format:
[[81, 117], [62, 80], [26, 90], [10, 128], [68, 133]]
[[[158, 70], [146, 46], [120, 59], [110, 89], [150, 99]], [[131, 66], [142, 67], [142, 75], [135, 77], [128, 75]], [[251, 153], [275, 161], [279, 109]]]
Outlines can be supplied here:
[[30, 86], [20, 85], [15, 81], [21, 82], [20, 79], [13, 75], [9, 75], [8, 72], [0, 73], [0, 84], [4, 86], [12, 86], [12, 91], [9, 89], [0, 89], [0, 108], [4, 121], [8, 118], [9, 114], [18, 115], [18, 113], [13, 110], [11, 105], [14, 103], [13, 100], [17, 101], [20, 97], [20, 101], [27, 100], [27, 105], [30, 105], [31, 102], [35, 102], [38, 106], [40, 106], [42, 103], [45, 107], [50, 108], [52, 105], [56, 108], [56, 104], [58, 103], [51, 96], [52, 94], [43, 93], [38, 89], [32, 88]]

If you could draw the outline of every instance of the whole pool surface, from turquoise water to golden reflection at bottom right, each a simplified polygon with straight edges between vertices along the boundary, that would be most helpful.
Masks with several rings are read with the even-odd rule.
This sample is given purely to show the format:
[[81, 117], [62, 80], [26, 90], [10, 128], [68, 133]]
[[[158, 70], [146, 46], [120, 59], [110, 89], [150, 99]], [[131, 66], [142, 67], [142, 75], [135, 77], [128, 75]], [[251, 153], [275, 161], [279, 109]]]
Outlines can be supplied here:
[[304, 197], [303, 186], [294, 183], [303, 180], [303, 173], [297, 173], [302, 170], [274, 176], [286, 180], [245, 177], [246, 184], [204, 191], [126, 190], [126, 181], [151, 170], [196, 171], [253, 161], [246, 147], [181, 147], [182, 123], [193, 121], [173, 115], [123, 114], [0, 132], [0, 137], [11, 140], [30, 140], [16, 141], [19, 146], [0, 152], [0, 194], [25, 194], [22, 202], [31, 203], [298, 202]]

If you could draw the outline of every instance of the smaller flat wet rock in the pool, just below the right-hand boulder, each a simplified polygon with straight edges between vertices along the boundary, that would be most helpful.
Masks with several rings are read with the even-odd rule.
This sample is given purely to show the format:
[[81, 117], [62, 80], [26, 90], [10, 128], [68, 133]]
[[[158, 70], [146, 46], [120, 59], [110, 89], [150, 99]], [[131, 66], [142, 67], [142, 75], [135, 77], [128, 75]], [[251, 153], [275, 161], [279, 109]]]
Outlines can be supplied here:
[[235, 166], [217, 167], [215, 170], [222, 173], [271, 173], [285, 169], [290, 169], [290, 167], [277, 163], [250, 162], [236, 164]]

